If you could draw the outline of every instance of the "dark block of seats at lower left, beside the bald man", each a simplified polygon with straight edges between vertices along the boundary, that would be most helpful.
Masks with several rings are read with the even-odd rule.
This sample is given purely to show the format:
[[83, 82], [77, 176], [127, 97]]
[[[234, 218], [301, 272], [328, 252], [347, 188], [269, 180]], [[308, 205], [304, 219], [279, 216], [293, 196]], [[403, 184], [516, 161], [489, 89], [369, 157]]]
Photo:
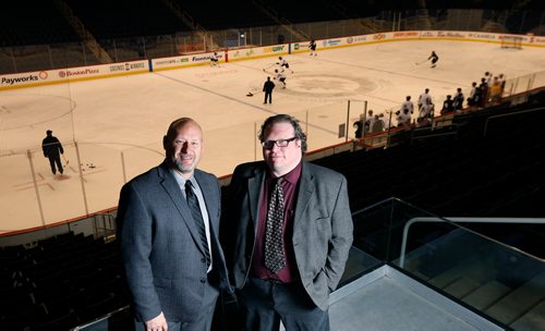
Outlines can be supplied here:
[[0, 329], [68, 330], [129, 305], [117, 242], [69, 232], [0, 249]]

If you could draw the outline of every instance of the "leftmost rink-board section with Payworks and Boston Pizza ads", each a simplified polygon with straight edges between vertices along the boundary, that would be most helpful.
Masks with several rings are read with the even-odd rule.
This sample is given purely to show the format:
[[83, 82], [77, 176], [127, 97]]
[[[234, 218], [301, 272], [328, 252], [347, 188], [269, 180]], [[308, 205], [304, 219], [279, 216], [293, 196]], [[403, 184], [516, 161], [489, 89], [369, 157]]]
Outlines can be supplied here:
[[148, 61], [131, 61], [0, 76], [0, 90], [148, 72]]

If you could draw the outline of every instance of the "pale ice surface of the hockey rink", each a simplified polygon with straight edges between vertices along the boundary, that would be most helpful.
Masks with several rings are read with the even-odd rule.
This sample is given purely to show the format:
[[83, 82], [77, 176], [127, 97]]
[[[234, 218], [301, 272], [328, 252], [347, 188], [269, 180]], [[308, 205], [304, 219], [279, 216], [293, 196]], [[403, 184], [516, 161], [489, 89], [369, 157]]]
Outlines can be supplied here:
[[[429, 62], [422, 63], [432, 50], [439, 56], [435, 69]], [[471, 83], [480, 82], [485, 71], [494, 75], [504, 73], [508, 79], [545, 71], [543, 48], [501, 49], [497, 44], [470, 41], [382, 42], [318, 49], [317, 57], [308, 53], [283, 57], [293, 73], [287, 71], [286, 89], [275, 81], [272, 105], [263, 105], [261, 93], [274, 70], [270, 65], [278, 61], [272, 57], [221, 63], [219, 68], [203, 65], [0, 91], [0, 164], [3, 170], [10, 169], [2, 171], [5, 185], [0, 189], [0, 207], [14, 208], [9, 212], [11, 218], [20, 218], [20, 214], [25, 218], [19, 225], [2, 224], [0, 230], [25, 229], [114, 207], [124, 181], [160, 162], [162, 136], [170, 122], [180, 117], [201, 123], [206, 149], [199, 168], [221, 176], [231, 173], [239, 162], [261, 158], [261, 148], [253, 145], [254, 134], [271, 114], [290, 113], [308, 122], [308, 145], [313, 150], [338, 142], [338, 124], [346, 121], [348, 100], [351, 100], [350, 120], [353, 121], [363, 111], [363, 101], [367, 101], [367, 108], [375, 113], [382, 113], [399, 109], [408, 95], [416, 103], [424, 88], [429, 88], [437, 110], [445, 96], [453, 95], [458, 87], [468, 97]], [[544, 85], [545, 82], [536, 81], [533, 87]], [[254, 96], [246, 97], [249, 91]], [[66, 146], [70, 166], [63, 179], [52, 176], [47, 159], [40, 155], [46, 130], [52, 130]], [[350, 134], [353, 134], [351, 127]], [[74, 142], [89, 150], [87, 156], [78, 156], [87, 170], [81, 182], [96, 186], [87, 188], [87, 198], [104, 195], [104, 201], [85, 208], [75, 203], [80, 207], [74, 211], [70, 210], [66, 199], [51, 198], [43, 201], [44, 209], [51, 210], [45, 212], [45, 222], [40, 221], [35, 207], [28, 214], [21, 212], [27, 204], [36, 204], [27, 150], [34, 156], [40, 195], [70, 195], [71, 191], [62, 186], [70, 182], [74, 187], [81, 185], [77, 156], [71, 147]], [[145, 150], [145, 154], [134, 150]], [[119, 162], [121, 151], [126, 152], [124, 167], [134, 166], [134, 170], [123, 174], [116, 170], [114, 174], [106, 175], [118, 167], [110, 163], [112, 158]], [[131, 158], [131, 154], [134, 157]], [[17, 172], [12, 168], [23, 169]], [[102, 173], [100, 180], [98, 172]], [[97, 173], [95, 180], [92, 173]], [[24, 198], [13, 201], [19, 195]], [[62, 209], [69, 206], [69, 210], [53, 212], [57, 204], [61, 204]]]

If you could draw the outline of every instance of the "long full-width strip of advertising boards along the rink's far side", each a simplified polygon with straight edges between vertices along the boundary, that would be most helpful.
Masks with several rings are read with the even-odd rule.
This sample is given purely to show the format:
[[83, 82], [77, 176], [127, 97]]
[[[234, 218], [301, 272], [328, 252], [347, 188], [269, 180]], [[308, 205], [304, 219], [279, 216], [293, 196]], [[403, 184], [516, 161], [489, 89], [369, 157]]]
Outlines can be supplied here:
[[[360, 36], [316, 40], [318, 51], [347, 46], [371, 45], [398, 40], [460, 40], [501, 44], [504, 37], [520, 37], [522, 47], [545, 47], [545, 37], [533, 35], [505, 35], [486, 32], [425, 30], [425, 32], [389, 32]], [[217, 51], [220, 62], [249, 60], [265, 57], [277, 57], [288, 53], [307, 52], [308, 41], [280, 44], [265, 47], [240, 48]], [[152, 71], [181, 69], [193, 65], [205, 65], [210, 62], [214, 52], [160, 58], [152, 60], [130, 61], [81, 68], [26, 72], [0, 75], [0, 90], [48, 85], [56, 83], [77, 82], [104, 78], [117, 75], [136, 74]]]

